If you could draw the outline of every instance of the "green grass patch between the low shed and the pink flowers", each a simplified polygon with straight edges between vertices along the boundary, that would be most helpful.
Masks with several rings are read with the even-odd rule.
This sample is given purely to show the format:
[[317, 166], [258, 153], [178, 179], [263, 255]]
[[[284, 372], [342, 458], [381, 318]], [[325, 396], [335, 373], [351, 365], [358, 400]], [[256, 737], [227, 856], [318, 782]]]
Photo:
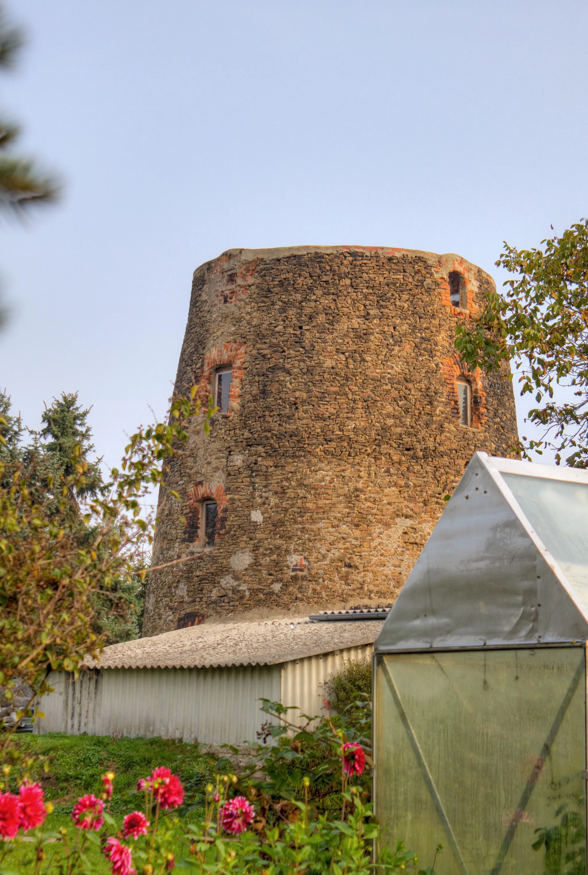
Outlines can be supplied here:
[[[34, 774], [55, 812], [71, 812], [73, 803], [85, 793], [99, 793], [104, 772], [114, 772], [113, 814], [126, 813], [141, 804], [137, 781], [157, 766], [167, 766], [179, 776], [186, 790], [186, 802], [198, 803], [202, 789], [217, 770], [227, 770], [228, 761], [213, 767], [197, 745], [169, 739], [113, 739], [88, 735], [23, 735], [18, 739], [24, 752], [47, 757], [49, 773]], [[16, 790], [16, 787], [14, 788]], [[142, 799], [142, 797], [141, 797]]]

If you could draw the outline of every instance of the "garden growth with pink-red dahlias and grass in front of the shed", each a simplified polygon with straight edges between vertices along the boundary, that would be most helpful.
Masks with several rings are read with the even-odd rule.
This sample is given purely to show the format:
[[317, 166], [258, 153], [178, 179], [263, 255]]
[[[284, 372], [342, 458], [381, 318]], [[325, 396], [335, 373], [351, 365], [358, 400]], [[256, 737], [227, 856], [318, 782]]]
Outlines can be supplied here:
[[[268, 715], [262, 734], [274, 743], [258, 746], [238, 774], [198, 746], [162, 739], [19, 740], [37, 758], [49, 758], [45, 795], [63, 807], [47, 817], [51, 802], [38, 784], [21, 785], [19, 795], [12, 785], [11, 795], [0, 796], [0, 834], [14, 835], [14, 844], [0, 846], [0, 872], [4, 859], [28, 875], [104, 872], [106, 857], [113, 875], [175, 868], [200, 875], [402, 875], [407, 869], [432, 875], [435, 861], [420, 869], [402, 842], [394, 852], [379, 847], [369, 741], [360, 735], [371, 719], [367, 707], [363, 718], [355, 711], [353, 723], [339, 715], [318, 723], [309, 718], [302, 728], [279, 703], [262, 700], [262, 709]], [[108, 771], [99, 779], [102, 768]], [[65, 806], [71, 807], [74, 789], [81, 798], [68, 823]], [[21, 812], [18, 831], [7, 816], [11, 806]]]

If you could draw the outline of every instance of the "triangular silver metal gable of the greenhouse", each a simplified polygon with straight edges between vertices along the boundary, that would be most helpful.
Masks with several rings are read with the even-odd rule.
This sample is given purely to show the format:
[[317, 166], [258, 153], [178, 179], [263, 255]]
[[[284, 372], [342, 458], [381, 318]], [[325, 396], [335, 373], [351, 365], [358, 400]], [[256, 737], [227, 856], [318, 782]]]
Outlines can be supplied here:
[[588, 622], [500, 476], [502, 461], [475, 453], [381, 628], [376, 653], [588, 638]]

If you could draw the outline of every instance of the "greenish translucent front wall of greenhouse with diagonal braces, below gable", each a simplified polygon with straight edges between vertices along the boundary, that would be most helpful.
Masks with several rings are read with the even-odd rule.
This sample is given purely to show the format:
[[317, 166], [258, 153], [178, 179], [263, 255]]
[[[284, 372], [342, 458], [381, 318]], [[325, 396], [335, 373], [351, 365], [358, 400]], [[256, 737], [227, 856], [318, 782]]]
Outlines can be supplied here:
[[419, 868], [444, 844], [438, 875], [584, 873], [584, 690], [583, 648], [379, 657], [385, 842]]

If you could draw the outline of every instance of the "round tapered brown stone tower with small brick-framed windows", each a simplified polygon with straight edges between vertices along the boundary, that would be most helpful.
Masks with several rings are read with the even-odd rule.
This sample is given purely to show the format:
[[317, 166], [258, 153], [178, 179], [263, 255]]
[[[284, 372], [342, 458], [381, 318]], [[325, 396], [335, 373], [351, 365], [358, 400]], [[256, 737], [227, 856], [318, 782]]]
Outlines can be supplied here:
[[493, 288], [458, 255], [229, 249], [194, 273], [175, 391], [221, 408], [172, 459], [144, 634], [394, 600], [475, 450], [512, 455], [504, 374], [455, 326]]

